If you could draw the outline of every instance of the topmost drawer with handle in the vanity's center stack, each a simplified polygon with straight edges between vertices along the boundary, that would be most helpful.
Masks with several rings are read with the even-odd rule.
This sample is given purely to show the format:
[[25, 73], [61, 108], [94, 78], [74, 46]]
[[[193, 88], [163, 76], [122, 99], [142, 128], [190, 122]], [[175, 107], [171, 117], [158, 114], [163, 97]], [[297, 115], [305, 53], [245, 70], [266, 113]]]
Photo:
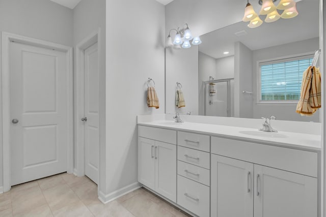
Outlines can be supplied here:
[[196, 133], [178, 132], [178, 145], [202, 151], [210, 151], [209, 136]]

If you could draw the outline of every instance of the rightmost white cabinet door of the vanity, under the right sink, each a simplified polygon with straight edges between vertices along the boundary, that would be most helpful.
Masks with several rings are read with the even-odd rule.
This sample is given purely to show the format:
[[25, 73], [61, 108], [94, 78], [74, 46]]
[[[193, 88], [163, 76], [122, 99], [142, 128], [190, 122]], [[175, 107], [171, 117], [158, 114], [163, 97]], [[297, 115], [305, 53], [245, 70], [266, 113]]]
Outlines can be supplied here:
[[317, 178], [255, 165], [255, 217], [316, 217]]

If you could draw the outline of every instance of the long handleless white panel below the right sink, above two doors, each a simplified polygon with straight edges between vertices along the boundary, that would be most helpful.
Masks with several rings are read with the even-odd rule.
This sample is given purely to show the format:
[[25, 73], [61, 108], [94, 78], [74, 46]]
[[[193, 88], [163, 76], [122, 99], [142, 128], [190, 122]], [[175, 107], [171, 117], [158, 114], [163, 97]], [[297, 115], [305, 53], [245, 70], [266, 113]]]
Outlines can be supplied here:
[[294, 173], [317, 177], [317, 153], [211, 137], [211, 152]]

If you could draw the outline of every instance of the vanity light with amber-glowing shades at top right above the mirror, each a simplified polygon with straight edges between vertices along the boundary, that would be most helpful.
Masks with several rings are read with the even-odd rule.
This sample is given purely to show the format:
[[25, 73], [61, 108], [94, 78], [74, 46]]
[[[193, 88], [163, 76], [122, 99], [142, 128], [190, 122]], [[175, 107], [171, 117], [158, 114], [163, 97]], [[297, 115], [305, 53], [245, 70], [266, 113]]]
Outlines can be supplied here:
[[[261, 5], [259, 15], [266, 15], [265, 22], [274, 22], [280, 18], [293, 18], [298, 15], [294, 0], [281, 0], [278, 6], [274, 5], [276, 1], [277, 0], [258, 0], [259, 5]], [[280, 15], [278, 10], [283, 10], [283, 13]], [[250, 21], [248, 27], [256, 28], [263, 23], [259, 15], [255, 12], [248, 0], [246, 9], [244, 9], [242, 21]]]

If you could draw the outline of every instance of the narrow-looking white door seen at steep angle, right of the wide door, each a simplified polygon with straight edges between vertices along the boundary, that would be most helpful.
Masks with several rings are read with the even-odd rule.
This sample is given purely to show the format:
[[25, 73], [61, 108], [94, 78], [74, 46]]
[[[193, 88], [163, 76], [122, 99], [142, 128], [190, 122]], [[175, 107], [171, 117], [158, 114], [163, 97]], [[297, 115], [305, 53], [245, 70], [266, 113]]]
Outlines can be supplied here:
[[99, 72], [97, 43], [85, 49], [85, 175], [99, 177]]

